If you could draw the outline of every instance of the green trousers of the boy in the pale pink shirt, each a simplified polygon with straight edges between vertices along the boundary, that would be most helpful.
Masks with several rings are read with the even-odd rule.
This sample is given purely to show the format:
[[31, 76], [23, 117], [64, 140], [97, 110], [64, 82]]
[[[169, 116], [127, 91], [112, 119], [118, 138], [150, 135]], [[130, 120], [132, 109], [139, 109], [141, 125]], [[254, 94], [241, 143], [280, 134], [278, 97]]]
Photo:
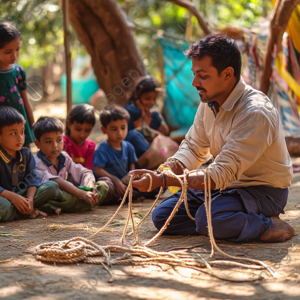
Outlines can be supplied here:
[[45, 212], [53, 212], [57, 208], [61, 208], [61, 212], [83, 212], [90, 210], [94, 206], [99, 205], [105, 199], [109, 190], [107, 183], [104, 181], [98, 181], [96, 183], [96, 187], [102, 196], [99, 199], [99, 202], [95, 205], [90, 205], [64, 190], [59, 190], [58, 196], [45, 202], [40, 207], [40, 210]]

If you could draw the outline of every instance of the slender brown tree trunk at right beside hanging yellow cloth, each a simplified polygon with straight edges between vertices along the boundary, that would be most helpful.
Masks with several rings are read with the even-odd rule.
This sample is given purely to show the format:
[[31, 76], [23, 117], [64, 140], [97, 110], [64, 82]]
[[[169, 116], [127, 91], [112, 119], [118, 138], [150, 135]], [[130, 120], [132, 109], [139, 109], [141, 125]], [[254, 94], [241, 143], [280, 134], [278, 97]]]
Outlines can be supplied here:
[[260, 90], [267, 95], [270, 86], [270, 77], [272, 75], [272, 61], [274, 46], [277, 46], [275, 57], [277, 53], [281, 51], [281, 42], [283, 34], [286, 30], [287, 23], [292, 11], [300, 0], [277, 0], [274, 6], [271, 23], [270, 23], [270, 37], [267, 46], [267, 52], [265, 56], [265, 62], [262, 71], [261, 88]]

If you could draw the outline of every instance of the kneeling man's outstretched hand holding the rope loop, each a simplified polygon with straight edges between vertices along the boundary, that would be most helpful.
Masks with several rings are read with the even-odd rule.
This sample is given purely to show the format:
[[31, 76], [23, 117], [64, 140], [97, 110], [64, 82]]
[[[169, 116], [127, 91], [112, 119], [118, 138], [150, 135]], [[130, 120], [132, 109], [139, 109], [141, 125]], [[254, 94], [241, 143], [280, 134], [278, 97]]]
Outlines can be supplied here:
[[[129, 172], [130, 175], [140, 175], [140, 176], [143, 176], [146, 173], [150, 174], [152, 177], [151, 190], [154, 190], [155, 188], [162, 186], [163, 179], [161, 174], [157, 174], [149, 170], [133, 170]], [[141, 192], [146, 192], [149, 189], [149, 185], [150, 185], [150, 179], [148, 178], [148, 176], [142, 177], [141, 179], [136, 179], [132, 182], [132, 186], [136, 187]]]

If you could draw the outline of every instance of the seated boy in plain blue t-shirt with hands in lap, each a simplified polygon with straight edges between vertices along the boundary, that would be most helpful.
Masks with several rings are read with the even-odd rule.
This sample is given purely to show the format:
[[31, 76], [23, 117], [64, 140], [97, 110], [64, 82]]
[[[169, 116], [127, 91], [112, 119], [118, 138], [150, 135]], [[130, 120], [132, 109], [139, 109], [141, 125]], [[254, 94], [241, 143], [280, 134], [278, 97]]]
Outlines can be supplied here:
[[[128, 173], [135, 169], [137, 156], [134, 147], [125, 141], [129, 119], [128, 111], [117, 105], [105, 107], [100, 115], [101, 130], [108, 139], [96, 149], [93, 166], [95, 178], [105, 181], [110, 187], [105, 204], [119, 203], [129, 183]], [[134, 189], [133, 199], [141, 196], [153, 198], [157, 193], [157, 190], [148, 193]]]

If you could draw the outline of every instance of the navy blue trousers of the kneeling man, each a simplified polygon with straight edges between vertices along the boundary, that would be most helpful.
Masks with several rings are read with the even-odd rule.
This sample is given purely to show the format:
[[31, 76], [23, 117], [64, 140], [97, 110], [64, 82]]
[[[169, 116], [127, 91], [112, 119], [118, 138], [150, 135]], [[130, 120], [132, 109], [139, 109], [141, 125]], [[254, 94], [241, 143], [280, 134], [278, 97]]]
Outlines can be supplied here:
[[[180, 194], [181, 191], [168, 197], [152, 212], [158, 230], [164, 226]], [[266, 185], [211, 190], [214, 238], [238, 243], [257, 240], [271, 226], [270, 217], [284, 214], [288, 194], [288, 188]], [[164, 234], [208, 236], [204, 191], [187, 190], [187, 205], [195, 221], [187, 215], [183, 201]]]

